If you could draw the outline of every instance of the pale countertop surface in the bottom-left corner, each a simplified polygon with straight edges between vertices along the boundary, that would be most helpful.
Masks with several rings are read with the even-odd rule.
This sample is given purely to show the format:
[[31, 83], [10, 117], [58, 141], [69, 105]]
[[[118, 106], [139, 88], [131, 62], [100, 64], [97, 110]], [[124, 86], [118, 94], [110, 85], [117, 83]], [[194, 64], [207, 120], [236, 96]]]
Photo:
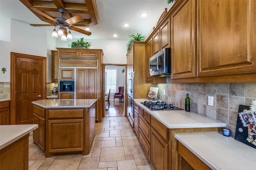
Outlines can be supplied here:
[[0, 149], [38, 128], [38, 125], [0, 125]]

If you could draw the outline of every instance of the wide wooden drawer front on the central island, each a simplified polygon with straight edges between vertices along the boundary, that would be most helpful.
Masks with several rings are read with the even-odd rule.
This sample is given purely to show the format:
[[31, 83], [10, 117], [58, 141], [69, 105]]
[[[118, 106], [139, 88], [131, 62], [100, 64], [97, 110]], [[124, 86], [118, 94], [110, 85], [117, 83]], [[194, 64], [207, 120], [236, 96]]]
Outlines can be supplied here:
[[49, 119], [84, 117], [83, 109], [49, 110], [48, 112], [49, 112]]

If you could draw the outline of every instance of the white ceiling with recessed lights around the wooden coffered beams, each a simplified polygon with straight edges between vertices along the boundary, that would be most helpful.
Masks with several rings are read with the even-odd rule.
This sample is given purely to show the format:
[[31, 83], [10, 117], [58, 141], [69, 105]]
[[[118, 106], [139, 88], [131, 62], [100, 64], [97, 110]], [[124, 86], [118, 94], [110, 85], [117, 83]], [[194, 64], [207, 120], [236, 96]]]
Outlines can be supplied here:
[[[128, 35], [136, 33], [142, 33], [147, 38], [164, 9], [169, 10], [172, 6], [167, 0], [96, 0], [96, 4], [100, 19], [98, 24], [91, 28], [92, 35], [71, 31], [74, 38], [130, 40]], [[140, 17], [141, 12], [147, 12], [148, 16]], [[19, 0], [0, 0], [0, 16], [28, 24], [46, 23], [37, 18]], [[130, 26], [123, 27], [123, 23]], [[52, 31], [54, 27], [42, 28]], [[113, 34], [117, 34], [118, 37], [113, 37]]]

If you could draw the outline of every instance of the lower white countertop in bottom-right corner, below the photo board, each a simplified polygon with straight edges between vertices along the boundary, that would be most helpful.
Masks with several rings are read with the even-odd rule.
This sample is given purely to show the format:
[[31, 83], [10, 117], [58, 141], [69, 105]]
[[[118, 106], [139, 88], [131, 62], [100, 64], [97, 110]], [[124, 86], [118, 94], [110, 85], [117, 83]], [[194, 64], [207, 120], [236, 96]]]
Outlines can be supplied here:
[[213, 170], [256, 169], [256, 149], [222, 133], [182, 133], [174, 137]]

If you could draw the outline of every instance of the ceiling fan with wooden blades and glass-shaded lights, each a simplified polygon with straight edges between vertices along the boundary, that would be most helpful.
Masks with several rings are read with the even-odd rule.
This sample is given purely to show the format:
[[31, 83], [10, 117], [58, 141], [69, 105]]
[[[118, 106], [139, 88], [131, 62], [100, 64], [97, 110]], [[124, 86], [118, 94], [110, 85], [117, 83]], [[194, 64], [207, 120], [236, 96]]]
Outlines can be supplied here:
[[[36, 9], [36, 8], [30, 8], [31, 10], [33, 10], [34, 12], [40, 14], [41, 16], [44, 16], [45, 18], [47, 18], [48, 20], [52, 21], [52, 24], [30, 24], [32, 26], [55, 26], [54, 30], [52, 32], [52, 37], [58, 37], [58, 35], [62, 36], [62, 40], [65, 41], [65, 38], [67, 39], [72, 39], [72, 35], [70, 33], [70, 30], [67, 31], [67, 29], [71, 29], [73, 31], [77, 31], [80, 33], [83, 33], [85, 35], [91, 35], [91, 32], [77, 28], [77, 27], [73, 27], [72, 24], [84, 21], [84, 19], [78, 15], [73, 16], [69, 19], [65, 19], [63, 18], [63, 14], [66, 12], [64, 9], [59, 9], [59, 12], [62, 14], [62, 17], [57, 17], [57, 18], [52, 18], [51, 16], [47, 15], [46, 13]], [[57, 32], [57, 30], [58, 32]], [[66, 35], [66, 36], [64, 36]]]

